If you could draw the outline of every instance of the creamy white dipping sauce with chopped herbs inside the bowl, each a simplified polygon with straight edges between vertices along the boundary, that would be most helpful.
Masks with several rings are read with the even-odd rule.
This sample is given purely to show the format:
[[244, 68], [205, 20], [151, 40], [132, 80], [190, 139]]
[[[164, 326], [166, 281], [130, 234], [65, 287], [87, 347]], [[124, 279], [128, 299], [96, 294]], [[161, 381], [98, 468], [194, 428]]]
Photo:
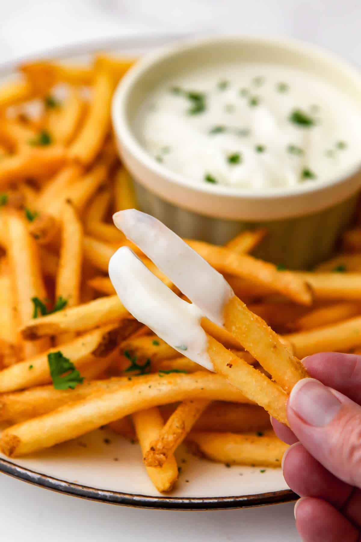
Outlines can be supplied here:
[[157, 87], [135, 122], [141, 144], [189, 184], [250, 191], [325, 183], [361, 159], [361, 110], [316, 75], [229, 63]]

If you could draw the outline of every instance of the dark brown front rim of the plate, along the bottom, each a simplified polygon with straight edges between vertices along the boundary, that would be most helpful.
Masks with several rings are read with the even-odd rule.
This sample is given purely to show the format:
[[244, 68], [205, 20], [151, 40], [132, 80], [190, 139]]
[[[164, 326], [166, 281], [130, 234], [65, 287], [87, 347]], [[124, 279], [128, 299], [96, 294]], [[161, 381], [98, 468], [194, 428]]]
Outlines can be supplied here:
[[60, 480], [53, 476], [38, 473], [35, 470], [26, 467], [21, 467], [16, 463], [6, 461], [2, 458], [0, 458], [0, 472], [12, 476], [12, 478], [38, 487], [50, 489], [57, 493], [63, 493], [91, 501], [107, 502], [108, 504], [120, 506], [133, 506], [136, 508], [207, 511], [284, 504], [298, 499], [298, 495], [291, 489], [257, 493], [254, 495], [231, 495], [223, 497], [172, 497], [123, 493], [112, 491], [110, 489], [97, 489], [74, 482]]

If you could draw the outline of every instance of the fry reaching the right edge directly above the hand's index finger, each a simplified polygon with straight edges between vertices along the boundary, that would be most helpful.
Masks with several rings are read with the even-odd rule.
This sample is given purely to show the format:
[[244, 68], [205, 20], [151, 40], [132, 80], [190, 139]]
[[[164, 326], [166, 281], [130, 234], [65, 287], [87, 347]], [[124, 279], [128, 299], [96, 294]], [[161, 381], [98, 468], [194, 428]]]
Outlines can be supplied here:
[[361, 317], [351, 318], [316, 330], [285, 335], [296, 356], [305, 358], [317, 352], [347, 352], [361, 346]]

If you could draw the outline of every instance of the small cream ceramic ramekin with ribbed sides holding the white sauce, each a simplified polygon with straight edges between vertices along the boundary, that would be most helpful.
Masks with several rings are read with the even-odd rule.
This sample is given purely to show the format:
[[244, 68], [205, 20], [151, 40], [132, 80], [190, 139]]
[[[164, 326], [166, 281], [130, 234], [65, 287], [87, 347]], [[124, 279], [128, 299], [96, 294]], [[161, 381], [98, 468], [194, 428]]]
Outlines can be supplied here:
[[266, 227], [258, 257], [288, 268], [309, 268], [330, 255], [355, 210], [358, 163], [328, 183], [252, 193], [237, 187], [187, 183], [157, 163], [136, 137], [136, 113], [160, 83], [182, 70], [228, 61], [277, 63], [317, 74], [361, 108], [361, 75], [342, 59], [293, 40], [216, 37], [176, 44], [145, 56], [129, 70], [113, 99], [113, 126], [121, 157], [134, 179], [140, 208], [183, 237], [223, 244], [241, 230]]

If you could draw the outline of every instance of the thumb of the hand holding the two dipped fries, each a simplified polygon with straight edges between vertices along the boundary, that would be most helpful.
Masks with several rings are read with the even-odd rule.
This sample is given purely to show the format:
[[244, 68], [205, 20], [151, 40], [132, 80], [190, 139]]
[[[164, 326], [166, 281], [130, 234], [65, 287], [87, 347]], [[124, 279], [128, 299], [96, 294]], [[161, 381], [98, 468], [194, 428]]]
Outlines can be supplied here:
[[304, 378], [291, 391], [287, 418], [313, 457], [340, 480], [361, 488], [361, 406]]

